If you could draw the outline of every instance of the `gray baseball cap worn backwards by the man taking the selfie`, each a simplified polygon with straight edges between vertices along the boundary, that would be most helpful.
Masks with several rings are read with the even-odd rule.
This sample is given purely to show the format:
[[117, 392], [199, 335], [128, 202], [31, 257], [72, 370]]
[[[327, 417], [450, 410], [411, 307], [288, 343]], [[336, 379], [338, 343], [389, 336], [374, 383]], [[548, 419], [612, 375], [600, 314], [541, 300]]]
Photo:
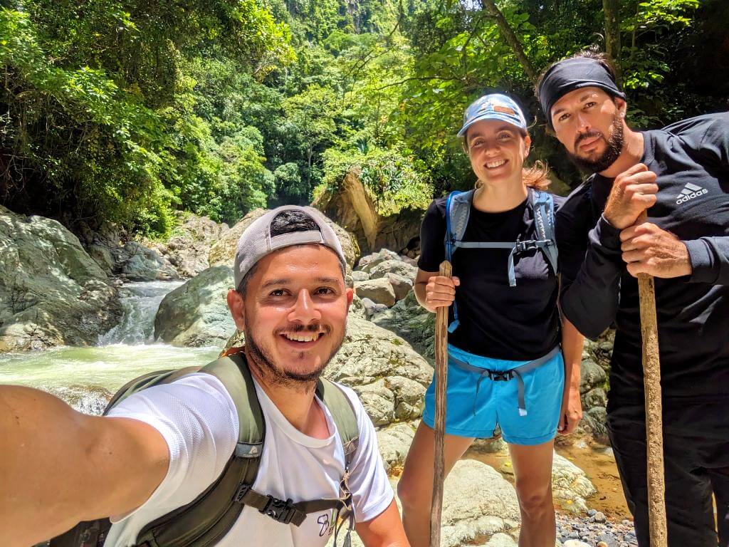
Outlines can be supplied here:
[[[300, 232], [282, 233], [280, 236], [271, 236], [271, 222], [277, 214], [284, 211], [300, 211], [307, 214], [316, 222], [319, 230], [305, 230]], [[266, 255], [273, 251], [291, 247], [292, 245], [319, 244], [329, 247], [337, 253], [342, 265], [346, 265], [342, 244], [337, 234], [327, 223], [319, 211], [313, 207], [302, 207], [298, 205], [284, 205], [276, 207], [272, 211], [257, 218], [246, 228], [238, 239], [238, 248], [235, 250], [235, 265], [233, 275], [235, 276], [235, 288], [241, 286], [243, 278], [253, 266]]]

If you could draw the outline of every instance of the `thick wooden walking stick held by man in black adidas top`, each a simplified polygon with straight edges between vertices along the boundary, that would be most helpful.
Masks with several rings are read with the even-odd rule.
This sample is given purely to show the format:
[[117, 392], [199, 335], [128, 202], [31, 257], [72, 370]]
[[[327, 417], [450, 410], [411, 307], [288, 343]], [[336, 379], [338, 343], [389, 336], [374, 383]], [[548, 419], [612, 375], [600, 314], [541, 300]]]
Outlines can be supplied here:
[[[646, 222], [642, 212], [638, 222]], [[666, 547], [666, 479], [663, 474], [663, 406], [660, 399], [658, 319], [655, 316], [655, 283], [648, 274], [638, 274], [640, 326], [643, 338], [643, 384], [648, 476], [648, 526], [650, 547]]]

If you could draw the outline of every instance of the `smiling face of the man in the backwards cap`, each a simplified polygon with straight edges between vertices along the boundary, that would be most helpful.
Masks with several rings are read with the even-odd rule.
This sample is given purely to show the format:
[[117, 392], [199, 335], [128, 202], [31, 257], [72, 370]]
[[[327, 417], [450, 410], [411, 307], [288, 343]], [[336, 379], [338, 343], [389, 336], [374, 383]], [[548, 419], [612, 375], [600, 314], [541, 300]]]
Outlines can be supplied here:
[[308, 387], [342, 344], [353, 296], [335, 252], [305, 244], [259, 260], [228, 305], [252, 365], [270, 381]]

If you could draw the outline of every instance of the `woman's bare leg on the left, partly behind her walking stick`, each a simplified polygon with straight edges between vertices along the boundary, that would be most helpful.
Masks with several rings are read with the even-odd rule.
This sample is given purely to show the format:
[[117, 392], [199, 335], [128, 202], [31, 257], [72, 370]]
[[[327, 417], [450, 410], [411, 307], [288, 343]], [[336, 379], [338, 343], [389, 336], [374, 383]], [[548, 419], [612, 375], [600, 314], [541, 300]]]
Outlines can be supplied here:
[[[451, 472], [472, 442], [472, 437], [445, 435], [445, 475]], [[430, 543], [434, 452], [435, 432], [425, 422], [420, 422], [397, 485], [397, 496], [402, 503], [402, 524], [412, 547], [428, 547]]]

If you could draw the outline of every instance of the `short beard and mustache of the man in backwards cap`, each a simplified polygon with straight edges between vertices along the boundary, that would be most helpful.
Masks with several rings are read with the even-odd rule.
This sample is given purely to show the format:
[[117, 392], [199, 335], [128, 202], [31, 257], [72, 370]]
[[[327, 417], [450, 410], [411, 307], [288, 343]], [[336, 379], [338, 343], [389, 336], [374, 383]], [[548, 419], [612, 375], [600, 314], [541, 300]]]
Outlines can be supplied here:
[[[262, 375], [265, 376], [265, 379], [267, 381], [270, 381], [271, 383], [277, 384], [282, 387], [291, 387], [303, 391], [310, 391], [311, 388], [316, 384], [316, 381], [319, 380], [319, 376], [321, 376], [324, 368], [327, 367], [330, 360], [332, 360], [332, 357], [334, 357], [335, 353], [339, 351], [344, 341], [345, 330], [343, 329], [339, 340], [335, 341], [332, 352], [329, 354], [327, 359], [321, 362], [321, 364], [313, 371], [308, 371], [305, 373], [287, 371], [285, 368], [278, 366], [275, 362], [273, 362], [273, 355], [271, 354], [270, 349], [266, 348], [263, 344], [259, 344], [256, 341], [256, 338], [253, 335], [253, 329], [251, 328], [251, 325], [248, 324], [246, 317], [247, 316], [243, 317], [243, 335], [245, 336], [246, 349], [248, 350], [249, 357], [251, 357], [251, 359], [253, 360], [253, 364], [260, 369]], [[321, 325], [298, 325], [297, 327], [286, 329], [285, 332], [302, 333], [319, 332], [319, 330], [321, 330]], [[278, 336], [280, 334], [281, 333], [275, 333], [274, 335]], [[331, 335], [332, 329], [330, 327], [324, 327], [324, 334], [322, 336]], [[303, 357], [304, 352], [301, 352], [299, 354], [299, 358], [303, 359]]]

